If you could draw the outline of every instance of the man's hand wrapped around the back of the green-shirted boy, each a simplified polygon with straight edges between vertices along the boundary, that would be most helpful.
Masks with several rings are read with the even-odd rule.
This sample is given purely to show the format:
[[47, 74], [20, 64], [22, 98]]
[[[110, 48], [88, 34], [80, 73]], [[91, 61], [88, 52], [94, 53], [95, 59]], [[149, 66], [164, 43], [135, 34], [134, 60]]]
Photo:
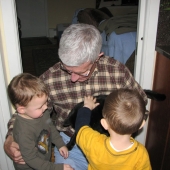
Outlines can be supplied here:
[[9, 135], [4, 143], [4, 150], [6, 154], [16, 163], [25, 164], [22, 159], [21, 152], [19, 150], [19, 146], [11, 135]]

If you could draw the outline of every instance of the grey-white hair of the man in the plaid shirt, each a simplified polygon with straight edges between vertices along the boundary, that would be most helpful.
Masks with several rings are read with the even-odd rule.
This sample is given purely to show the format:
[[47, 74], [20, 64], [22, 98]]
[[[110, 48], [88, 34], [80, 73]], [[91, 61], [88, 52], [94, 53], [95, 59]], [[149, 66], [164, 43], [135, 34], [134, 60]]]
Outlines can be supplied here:
[[59, 57], [67, 66], [94, 62], [100, 54], [102, 37], [92, 25], [72, 24], [66, 28], [59, 44]]

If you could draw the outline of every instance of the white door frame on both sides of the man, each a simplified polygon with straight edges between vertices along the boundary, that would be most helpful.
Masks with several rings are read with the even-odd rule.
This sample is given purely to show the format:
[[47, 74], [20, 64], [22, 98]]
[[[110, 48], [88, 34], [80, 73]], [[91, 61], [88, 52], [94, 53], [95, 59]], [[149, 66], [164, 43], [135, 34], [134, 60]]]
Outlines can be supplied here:
[[[156, 28], [157, 28], [157, 19], [158, 19], [158, 11], [159, 11], [159, 0], [141, 0], [142, 2], [142, 10], [140, 13], [140, 20], [138, 23], [139, 33], [138, 33], [138, 45], [137, 45], [137, 58], [136, 58], [136, 71], [135, 78], [140, 83], [140, 85], [145, 89], [151, 89], [152, 87], [152, 79], [153, 79], [153, 67], [154, 67], [154, 58], [155, 58], [155, 39], [156, 39]], [[4, 99], [6, 95], [4, 91], [6, 90], [6, 84], [11, 80], [12, 77], [22, 72], [22, 64], [20, 62], [20, 50], [18, 43], [18, 32], [17, 32], [17, 20], [16, 20], [16, 11], [15, 11], [15, 3], [14, 0], [0, 0], [0, 8], [1, 8], [1, 36], [0, 42], [3, 46], [0, 46], [0, 51], [6, 51], [1, 58], [6, 60], [5, 64], [2, 63], [3, 69], [6, 70], [1, 77], [4, 78], [6, 82], [2, 82], [4, 85], [3, 88], [0, 88], [1, 95], [0, 102], [4, 103]], [[144, 22], [145, 21], [145, 22]], [[143, 37], [143, 39], [141, 39]], [[149, 105], [148, 105], [149, 107]], [[8, 101], [5, 104], [1, 105], [1, 114], [4, 118], [3, 124], [1, 124], [1, 132], [6, 132], [7, 127], [6, 124], [9, 120], [10, 113], [9, 110], [10, 105]], [[9, 113], [9, 114], [7, 114]], [[145, 129], [147, 126], [145, 126]], [[138, 140], [145, 144], [145, 130], [138, 138]], [[5, 133], [1, 134], [2, 143], [5, 140]], [[1, 153], [3, 160], [0, 160], [1, 168], [6, 170], [12, 170], [12, 162], [3, 152], [3, 146], [1, 145]], [[4, 160], [7, 161], [4, 161]]]

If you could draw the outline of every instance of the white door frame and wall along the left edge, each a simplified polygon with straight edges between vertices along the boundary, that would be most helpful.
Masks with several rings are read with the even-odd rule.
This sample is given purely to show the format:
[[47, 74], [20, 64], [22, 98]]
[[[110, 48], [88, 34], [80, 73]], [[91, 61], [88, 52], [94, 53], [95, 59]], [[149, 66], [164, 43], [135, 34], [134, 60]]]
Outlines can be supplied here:
[[0, 0], [0, 167], [14, 170], [5, 154], [3, 144], [7, 122], [11, 117], [6, 87], [12, 77], [22, 72], [20, 46], [16, 20], [15, 0]]

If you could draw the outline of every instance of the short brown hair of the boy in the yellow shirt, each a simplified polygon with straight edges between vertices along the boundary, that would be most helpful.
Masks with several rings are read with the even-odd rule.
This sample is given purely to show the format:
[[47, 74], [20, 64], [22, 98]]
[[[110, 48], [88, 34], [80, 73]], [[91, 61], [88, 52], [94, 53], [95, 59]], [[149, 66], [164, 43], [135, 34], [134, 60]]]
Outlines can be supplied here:
[[103, 117], [116, 133], [136, 132], [144, 119], [145, 102], [136, 90], [119, 89], [105, 100]]

